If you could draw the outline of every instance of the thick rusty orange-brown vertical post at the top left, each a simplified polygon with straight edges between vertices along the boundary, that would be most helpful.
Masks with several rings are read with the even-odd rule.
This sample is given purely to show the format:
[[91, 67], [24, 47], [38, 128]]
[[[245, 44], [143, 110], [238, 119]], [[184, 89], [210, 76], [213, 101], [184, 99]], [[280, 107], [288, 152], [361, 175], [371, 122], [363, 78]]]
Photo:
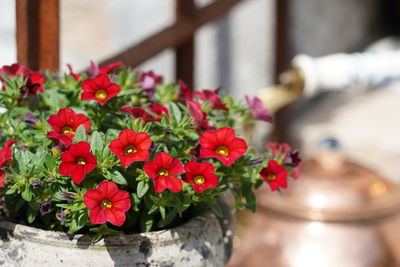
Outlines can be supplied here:
[[59, 0], [16, 0], [16, 8], [18, 62], [33, 70], [57, 71]]

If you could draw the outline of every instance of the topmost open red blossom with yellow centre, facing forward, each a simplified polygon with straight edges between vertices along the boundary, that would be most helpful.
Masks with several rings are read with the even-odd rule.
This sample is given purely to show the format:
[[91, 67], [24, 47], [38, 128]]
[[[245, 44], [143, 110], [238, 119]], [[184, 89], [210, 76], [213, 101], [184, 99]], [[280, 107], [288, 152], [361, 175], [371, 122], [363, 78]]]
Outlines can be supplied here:
[[94, 79], [84, 80], [82, 90], [81, 100], [96, 100], [102, 105], [121, 92], [119, 85], [111, 83], [108, 75], [104, 73]]

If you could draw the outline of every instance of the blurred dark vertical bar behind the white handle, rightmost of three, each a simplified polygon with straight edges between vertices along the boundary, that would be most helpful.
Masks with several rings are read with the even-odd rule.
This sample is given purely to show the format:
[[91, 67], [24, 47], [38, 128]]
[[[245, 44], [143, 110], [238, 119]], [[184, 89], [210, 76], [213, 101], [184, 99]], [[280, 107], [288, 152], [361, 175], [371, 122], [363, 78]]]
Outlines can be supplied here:
[[[275, 28], [275, 82], [279, 82], [279, 74], [287, 70], [290, 65], [292, 49], [290, 44], [289, 0], [276, 0], [276, 28]], [[275, 128], [272, 139], [280, 142], [289, 142], [288, 121], [290, 106], [276, 113]]]

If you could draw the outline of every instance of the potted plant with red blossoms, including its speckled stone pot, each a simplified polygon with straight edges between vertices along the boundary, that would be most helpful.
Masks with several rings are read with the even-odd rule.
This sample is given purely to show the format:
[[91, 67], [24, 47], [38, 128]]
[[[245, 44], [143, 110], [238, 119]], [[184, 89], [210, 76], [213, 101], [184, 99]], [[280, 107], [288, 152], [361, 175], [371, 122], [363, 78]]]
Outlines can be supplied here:
[[253, 189], [298, 173], [296, 151], [262, 155], [239, 137], [244, 122], [271, 122], [257, 98], [119, 62], [69, 69], [0, 69], [0, 262], [221, 266], [225, 192], [234, 212], [255, 211]]

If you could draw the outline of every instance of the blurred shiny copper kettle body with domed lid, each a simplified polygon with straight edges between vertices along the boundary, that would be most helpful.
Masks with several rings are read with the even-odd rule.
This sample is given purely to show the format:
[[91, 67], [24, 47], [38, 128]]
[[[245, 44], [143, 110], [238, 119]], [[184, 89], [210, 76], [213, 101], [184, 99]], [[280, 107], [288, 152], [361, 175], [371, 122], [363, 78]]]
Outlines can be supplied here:
[[229, 266], [400, 266], [400, 187], [337, 151], [303, 162], [287, 190], [257, 197]]

